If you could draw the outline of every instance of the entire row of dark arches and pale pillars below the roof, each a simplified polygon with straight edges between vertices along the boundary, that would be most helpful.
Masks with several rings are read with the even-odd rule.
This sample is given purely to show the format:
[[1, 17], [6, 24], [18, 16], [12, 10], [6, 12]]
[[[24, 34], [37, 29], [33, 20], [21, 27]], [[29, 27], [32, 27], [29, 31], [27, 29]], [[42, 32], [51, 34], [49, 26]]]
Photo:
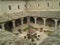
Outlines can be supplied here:
[[48, 17], [40, 17], [37, 15], [34, 15], [34, 16], [26, 16], [26, 17], [24, 16], [24, 17], [21, 17], [18, 19], [13, 19], [13, 20], [3, 22], [3, 23], [1, 23], [0, 28], [2, 28], [4, 30], [12, 31], [12, 29], [14, 29], [15, 27], [19, 27], [19, 26], [24, 25], [24, 24], [28, 25], [28, 21], [31, 24], [39, 24], [39, 25], [44, 25], [44, 26], [50, 25], [53, 28], [58, 28], [60, 25], [59, 18], [53, 18], [53, 17], [48, 18]]

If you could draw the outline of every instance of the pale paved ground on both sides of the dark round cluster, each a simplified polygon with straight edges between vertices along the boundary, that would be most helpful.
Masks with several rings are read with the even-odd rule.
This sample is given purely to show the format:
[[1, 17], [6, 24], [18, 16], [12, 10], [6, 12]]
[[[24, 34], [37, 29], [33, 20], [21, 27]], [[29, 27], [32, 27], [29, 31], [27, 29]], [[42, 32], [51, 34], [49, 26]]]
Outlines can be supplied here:
[[[40, 35], [39, 40], [35, 40], [35, 42], [37, 43], [37, 45], [39, 45], [44, 39], [46, 39], [48, 36], [44, 33], [44, 32], [39, 32], [36, 31], [37, 35]], [[24, 36], [27, 35], [27, 32], [23, 32], [22, 34], [19, 34], [19, 39], [20, 38], [24, 38]]]

